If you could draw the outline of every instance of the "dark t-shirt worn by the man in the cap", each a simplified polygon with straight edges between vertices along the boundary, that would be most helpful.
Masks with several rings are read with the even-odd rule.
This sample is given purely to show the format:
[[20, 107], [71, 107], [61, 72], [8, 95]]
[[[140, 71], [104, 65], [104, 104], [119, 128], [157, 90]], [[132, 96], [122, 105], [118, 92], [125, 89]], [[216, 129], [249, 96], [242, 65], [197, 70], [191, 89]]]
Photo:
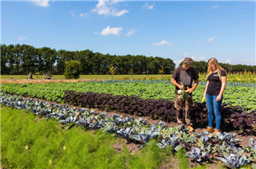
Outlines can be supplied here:
[[[192, 67], [190, 69], [186, 70], [183, 68], [183, 66], [178, 66], [177, 69], [174, 70], [173, 77], [174, 80], [178, 83], [178, 85], [184, 85], [184, 89], [186, 87], [192, 88], [192, 82], [193, 80], [198, 80], [198, 71]], [[175, 94], [178, 94], [179, 88], [176, 87]], [[190, 93], [192, 95], [192, 93]]]

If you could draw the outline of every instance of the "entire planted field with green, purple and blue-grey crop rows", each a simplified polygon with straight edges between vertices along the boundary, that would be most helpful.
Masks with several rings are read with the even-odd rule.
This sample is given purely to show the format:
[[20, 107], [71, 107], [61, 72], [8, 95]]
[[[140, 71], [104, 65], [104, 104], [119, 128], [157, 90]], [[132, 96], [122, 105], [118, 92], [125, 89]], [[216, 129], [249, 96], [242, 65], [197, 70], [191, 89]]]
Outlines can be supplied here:
[[[225, 122], [222, 122], [221, 127], [225, 128], [225, 132], [215, 137], [199, 129], [205, 128], [208, 121], [206, 104], [201, 103], [206, 81], [200, 81], [193, 92], [194, 126], [197, 131], [193, 133], [181, 126], [167, 127], [168, 123], [175, 124], [177, 116], [174, 109], [174, 85], [170, 81], [80, 79], [66, 82], [57, 80], [57, 83], [46, 84], [36, 83], [43, 80], [32, 80], [34, 83], [30, 81], [25, 84], [0, 85], [0, 104], [30, 112], [27, 115], [18, 109], [0, 109], [1, 116], [4, 115], [0, 130], [6, 136], [0, 141], [4, 147], [0, 154], [1, 166], [229, 168], [221, 163], [225, 162], [222, 158], [231, 158], [235, 154], [239, 155], [240, 166], [254, 169], [255, 83], [235, 81], [226, 84], [222, 104], [222, 119]], [[37, 100], [26, 100], [20, 96]], [[80, 107], [69, 108], [66, 104]], [[107, 113], [95, 112], [92, 108]], [[112, 112], [110, 116], [109, 112]], [[114, 112], [118, 112], [118, 115]], [[33, 113], [34, 116], [31, 115]], [[123, 115], [125, 118], [122, 118]], [[150, 122], [139, 116], [149, 117]], [[150, 124], [156, 120], [157, 123]], [[7, 130], [11, 123], [18, 124], [18, 127]], [[9, 142], [6, 143], [8, 138]], [[102, 146], [105, 144], [108, 146]], [[133, 151], [130, 146], [133, 146]], [[80, 147], [84, 148], [81, 150]], [[79, 153], [76, 153], [78, 149]], [[25, 156], [26, 160], [23, 160]], [[45, 158], [38, 162], [42, 156]]]

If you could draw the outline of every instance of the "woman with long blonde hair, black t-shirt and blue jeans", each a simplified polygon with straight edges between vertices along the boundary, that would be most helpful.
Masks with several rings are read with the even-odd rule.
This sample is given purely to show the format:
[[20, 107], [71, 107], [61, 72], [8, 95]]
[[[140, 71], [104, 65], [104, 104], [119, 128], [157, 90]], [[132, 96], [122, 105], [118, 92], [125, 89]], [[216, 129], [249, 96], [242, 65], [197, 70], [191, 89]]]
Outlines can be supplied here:
[[[226, 87], [226, 70], [222, 69], [222, 67], [218, 65], [218, 61], [214, 57], [208, 60], [208, 71], [206, 79], [208, 81], [203, 96], [206, 98], [209, 125], [205, 131], [214, 132], [213, 136], [215, 136], [216, 132], [221, 132], [221, 108], [223, 92]], [[213, 128], [214, 115], [216, 120], [215, 130]]]

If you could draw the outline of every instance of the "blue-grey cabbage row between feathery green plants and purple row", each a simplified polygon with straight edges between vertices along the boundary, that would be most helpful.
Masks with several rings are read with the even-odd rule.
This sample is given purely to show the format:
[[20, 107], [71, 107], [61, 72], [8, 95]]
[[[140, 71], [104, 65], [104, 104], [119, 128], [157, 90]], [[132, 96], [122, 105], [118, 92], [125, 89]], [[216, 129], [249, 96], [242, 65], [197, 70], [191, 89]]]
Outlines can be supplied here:
[[34, 115], [44, 116], [44, 119], [56, 119], [64, 124], [66, 129], [79, 126], [86, 130], [102, 129], [102, 132], [114, 133], [122, 136], [128, 142], [139, 143], [141, 149], [150, 140], [157, 140], [159, 148], [166, 148], [170, 151], [179, 151], [184, 149], [186, 155], [194, 163], [213, 162], [221, 160], [230, 167], [241, 167], [255, 161], [256, 143], [250, 139], [250, 144], [243, 147], [239, 144], [242, 140], [235, 140], [235, 134], [223, 132], [216, 136], [208, 132], [196, 133], [190, 135], [188, 128], [182, 125], [174, 128], [167, 128], [165, 122], [158, 124], [147, 123], [142, 118], [126, 117], [113, 115], [106, 116], [94, 110], [88, 111], [87, 108], [69, 108], [65, 104], [49, 104], [44, 101], [26, 100], [20, 96], [10, 96], [0, 93], [0, 104], [5, 104], [12, 108], [25, 109], [33, 112]]

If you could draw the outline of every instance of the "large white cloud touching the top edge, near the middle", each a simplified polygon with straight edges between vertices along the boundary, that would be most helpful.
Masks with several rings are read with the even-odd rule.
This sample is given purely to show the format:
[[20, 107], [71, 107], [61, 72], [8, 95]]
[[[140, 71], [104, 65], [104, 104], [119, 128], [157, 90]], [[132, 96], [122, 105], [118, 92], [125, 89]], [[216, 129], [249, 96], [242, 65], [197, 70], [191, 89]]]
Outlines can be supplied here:
[[128, 10], [119, 10], [114, 5], [116, 5], [120, 0], [112, 0], [109, 2], [109, 0], [106, 1], [98, 1], [98, 4], [95, 6], [93, 10], [90, 10], [91, 12], [97, 12], [99, 15], [104, 14], [106, 16], [112, 15], [115, 17], [119, 17], [122, 14], [129, 13]]

